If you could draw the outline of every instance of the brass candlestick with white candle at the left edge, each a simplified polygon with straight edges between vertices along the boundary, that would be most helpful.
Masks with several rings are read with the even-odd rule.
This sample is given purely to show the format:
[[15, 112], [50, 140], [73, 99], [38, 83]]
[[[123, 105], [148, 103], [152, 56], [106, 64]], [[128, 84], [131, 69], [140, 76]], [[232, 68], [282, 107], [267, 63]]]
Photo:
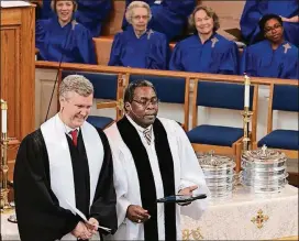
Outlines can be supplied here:
[[[8, 103], [4, 100], [1, 100], [1, 114], [2, 114], [2, 129], [1, 129], [1, 201], [0, 208], [1, 212], [8, 212], [12, 210], [12, 207], [9, 204], [9, 188], [8, 188], [8, 146], [9, 146], [9, 139], [7, 133], [7, 111], [8, 111]], [[4, 114], [5, 113], [5, 114]], [[3, 120], [3, 116], [4, 119]], [[5, 122], [5, 123], [3, 123]], [[3, 128], [4, 127], [4, 128]], [[3, 130], [4, 129], [4, 130]]]

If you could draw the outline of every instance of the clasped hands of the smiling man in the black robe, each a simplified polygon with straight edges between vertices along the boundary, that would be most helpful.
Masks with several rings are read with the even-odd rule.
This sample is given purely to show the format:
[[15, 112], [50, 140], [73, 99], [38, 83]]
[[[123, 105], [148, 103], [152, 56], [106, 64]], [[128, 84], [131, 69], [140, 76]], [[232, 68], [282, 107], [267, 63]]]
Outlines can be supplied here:
[[77, 239], [88, 240], [97, 233], [99, 222], [95, 218], [90, 218], [88, 222], [79, 221], [76, 228], [71, 231], [71, 234]]

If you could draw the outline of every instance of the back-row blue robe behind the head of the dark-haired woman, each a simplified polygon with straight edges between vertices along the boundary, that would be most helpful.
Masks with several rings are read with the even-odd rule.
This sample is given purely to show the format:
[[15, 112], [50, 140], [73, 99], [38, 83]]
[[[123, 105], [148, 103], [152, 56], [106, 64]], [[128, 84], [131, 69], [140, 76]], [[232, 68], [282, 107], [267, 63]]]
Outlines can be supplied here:
[[[255, 43], [258, 39], [258, 21], [265, 14], [274, 13], [284, 18], [292, 18], [299, 14], [298, 0], [261, 1], [247, 0], [241, 17], [241, 32], [246, 42]], [[284, 22], [285, 40], [299, 45], [299, 23]]]

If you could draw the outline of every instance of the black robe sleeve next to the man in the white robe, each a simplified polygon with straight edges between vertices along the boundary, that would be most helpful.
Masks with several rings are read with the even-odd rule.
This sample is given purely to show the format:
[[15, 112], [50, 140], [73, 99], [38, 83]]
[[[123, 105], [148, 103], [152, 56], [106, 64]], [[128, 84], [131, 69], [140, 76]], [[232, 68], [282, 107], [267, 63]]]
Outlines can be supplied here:
[[[97, 130], [103, 144], [104, 157], [93, 204], [90, 209], [90, 217], [96, 218], [100, 226], [110, 228], [112, 230], [111, 233], [114, 233], [118, 229], [118, 216], [112, 154], [106, 134], [100, 129]], [[99, 231], [107, 234], [104, 231]]]

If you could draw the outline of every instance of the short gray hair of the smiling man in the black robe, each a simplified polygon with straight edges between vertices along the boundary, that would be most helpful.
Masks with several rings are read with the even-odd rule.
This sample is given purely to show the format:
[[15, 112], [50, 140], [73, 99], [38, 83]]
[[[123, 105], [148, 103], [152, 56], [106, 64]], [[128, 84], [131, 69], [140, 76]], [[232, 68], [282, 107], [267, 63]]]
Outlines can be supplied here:
[[67, 98], [67, 92], [77, 92], [79, 96], [88, 97], [93, 94], [93, 86], [82, 75], [68, 75], [59, 86], [59, 99]]

